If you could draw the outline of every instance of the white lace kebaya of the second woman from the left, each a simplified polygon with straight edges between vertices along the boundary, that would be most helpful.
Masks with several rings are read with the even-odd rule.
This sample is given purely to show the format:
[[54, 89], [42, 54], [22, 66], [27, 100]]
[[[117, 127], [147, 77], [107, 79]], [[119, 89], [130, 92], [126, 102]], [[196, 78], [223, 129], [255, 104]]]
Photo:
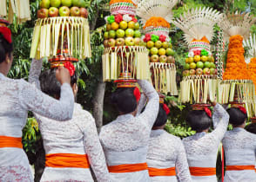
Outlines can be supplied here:
[[[39, 87], [41, 61], [33, 60], [30, 69], [30, 82]], [[72, 97], [74, 95], [72, 94]], [[71, 153], [85, 155], [98, 182], [110, 181], [109, 172], [104, 159], [104, 152], [98, 140], [95, 120], [91, 114], [75, 104], [71, 120], [59, 122], [35, 114], [44, 141], [46, 156], [54, 153]], [[73, 158], [73, 157], [72, 157]], [[77, 163], [85, 163], [82, 160]], [[58, 163], [58, 161], [57, 161]], [[82, 167], [51, 167], [46, 166], [41, 181], [84, 181], [93, 182], [89, 168]]]

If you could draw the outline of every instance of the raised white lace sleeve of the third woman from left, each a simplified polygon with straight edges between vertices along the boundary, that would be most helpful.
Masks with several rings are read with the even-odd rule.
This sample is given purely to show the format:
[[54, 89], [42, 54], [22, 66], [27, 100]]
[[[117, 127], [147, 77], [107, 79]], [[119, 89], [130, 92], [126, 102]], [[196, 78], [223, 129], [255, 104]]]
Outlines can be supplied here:
[[140, 88], [145, 92], [145, 95], [148, 98], [148, 103], [145, 107], [145, 111], [140, 114], [140, 120], [147, 121], [148, 126], [152, 128], [159, 110], [159, 96], [157, 91], [153, 88], [152, 84], [149, 81], [138, 80]]

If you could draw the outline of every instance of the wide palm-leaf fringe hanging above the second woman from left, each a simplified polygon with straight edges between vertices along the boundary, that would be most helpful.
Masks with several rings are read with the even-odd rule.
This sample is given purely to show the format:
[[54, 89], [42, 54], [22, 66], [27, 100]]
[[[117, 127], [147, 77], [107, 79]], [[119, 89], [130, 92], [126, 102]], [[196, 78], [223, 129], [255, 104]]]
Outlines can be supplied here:
[[91, 57], [90, 29], [84, 17], [50, 17], [37, 19], [33, 32], [30, 58], [52, 57], [57, 49], [63, 53], [67, 44], [75, 58]]

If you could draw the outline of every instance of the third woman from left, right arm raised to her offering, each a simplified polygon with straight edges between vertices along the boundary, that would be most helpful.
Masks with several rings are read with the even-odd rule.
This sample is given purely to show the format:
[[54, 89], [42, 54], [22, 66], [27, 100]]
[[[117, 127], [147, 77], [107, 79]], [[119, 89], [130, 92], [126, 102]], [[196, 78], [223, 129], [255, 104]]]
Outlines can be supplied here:
[[145, 92], [148, 103], [142, 114], [137, 114], [139, 101], [138, 88], [118, 88], [111, 100], [118, 108], [119, 116], [102, 127], [100, 140], [111, 173], [111, 181], [151, 181], [146, 153], [150, 133], [158, 116], [158, 93], [148, 81], [138, 81]]

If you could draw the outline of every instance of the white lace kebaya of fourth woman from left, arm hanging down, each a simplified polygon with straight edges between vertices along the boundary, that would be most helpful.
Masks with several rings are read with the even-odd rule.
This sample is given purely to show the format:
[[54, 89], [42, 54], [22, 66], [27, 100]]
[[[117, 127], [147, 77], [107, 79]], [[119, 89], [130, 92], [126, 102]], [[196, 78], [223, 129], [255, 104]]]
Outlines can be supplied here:
[[176, 175], [172, 176], [151, 177], [152, 182], [176, 182], [178, 179], [183, 182], [192, 181], [182, 141], [163, 129], [152, 130], [146, 162], [150, 168], [172, 167], [176, 171]]

